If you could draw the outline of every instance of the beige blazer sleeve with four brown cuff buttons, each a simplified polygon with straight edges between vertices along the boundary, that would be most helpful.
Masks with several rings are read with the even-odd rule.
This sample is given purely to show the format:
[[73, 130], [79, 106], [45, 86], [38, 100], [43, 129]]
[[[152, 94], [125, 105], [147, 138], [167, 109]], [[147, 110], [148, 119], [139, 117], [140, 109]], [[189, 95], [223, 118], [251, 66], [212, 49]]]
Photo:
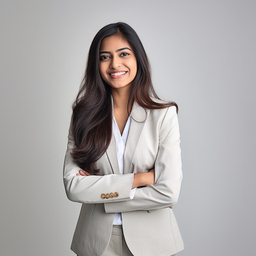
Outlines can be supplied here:
[[[107, 174], [107, 175], [76, 175], [81, 168], [77, 166], [70, 152], [74, 147], [72, 134], [72, 118], [68, 133], [68, 146], [63, 166], [63, 182], [67, 197], [78, 203], [110, 203], [131, 200], [131, 188], [134, 174]], [[112, 194], [113, 193], [113, 194]], [[109, 198], [102, 198], [102, 194], [109, 194]]]

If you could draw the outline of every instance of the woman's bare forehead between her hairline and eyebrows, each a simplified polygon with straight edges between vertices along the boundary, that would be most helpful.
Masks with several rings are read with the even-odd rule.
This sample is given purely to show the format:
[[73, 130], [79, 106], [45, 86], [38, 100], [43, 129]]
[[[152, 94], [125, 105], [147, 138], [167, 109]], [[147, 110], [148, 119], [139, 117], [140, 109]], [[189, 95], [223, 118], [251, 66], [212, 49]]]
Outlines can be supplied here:
[[124, 47], [129, 47], [131, 49], [131, 45], [127, 42], [125, 38], [114, 35], [105, 37], [101, 41], [100, 51], [115, 51]]

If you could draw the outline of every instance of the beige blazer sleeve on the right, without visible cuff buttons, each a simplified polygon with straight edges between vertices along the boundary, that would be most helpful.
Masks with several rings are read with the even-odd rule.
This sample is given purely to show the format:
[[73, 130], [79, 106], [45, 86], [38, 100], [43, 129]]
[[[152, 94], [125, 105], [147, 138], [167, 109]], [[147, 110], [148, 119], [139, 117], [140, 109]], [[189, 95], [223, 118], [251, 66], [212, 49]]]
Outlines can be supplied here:
[[130, 201], [105, 204], [106, 213], [154, 211], [178, 202], [181, 180], [180, 131], [175, 106], [167, 108], [160, 131], [154, 185], [138, 188]]

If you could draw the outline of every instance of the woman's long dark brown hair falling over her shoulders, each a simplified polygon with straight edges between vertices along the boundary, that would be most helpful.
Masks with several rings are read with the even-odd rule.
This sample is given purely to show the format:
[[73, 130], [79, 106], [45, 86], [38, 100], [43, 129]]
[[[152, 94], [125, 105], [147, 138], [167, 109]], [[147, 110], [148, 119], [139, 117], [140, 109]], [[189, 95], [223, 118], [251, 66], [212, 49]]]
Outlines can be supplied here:
[[75, 146], [71, 155], [83, 170], [97, 173], [94, 163], [107, 150], [112, 134], [112, 106], [110, 86], [103, 81], [99, 71], [99, 52], [103, 38], [122, 36], [132, 46], [137, 59], [137, 74], [133, 80], [129, 102], [136, 101], [144, 109], [161, 109], [178, 106], [175, 102], [158, 103], [159, 99], [151, 82], [151, 71], [147, 54], [137, 33], [126, 23], [109, 24], [95, 35], [87, 58], [85, 74], [73, 103], [72, 132]]

